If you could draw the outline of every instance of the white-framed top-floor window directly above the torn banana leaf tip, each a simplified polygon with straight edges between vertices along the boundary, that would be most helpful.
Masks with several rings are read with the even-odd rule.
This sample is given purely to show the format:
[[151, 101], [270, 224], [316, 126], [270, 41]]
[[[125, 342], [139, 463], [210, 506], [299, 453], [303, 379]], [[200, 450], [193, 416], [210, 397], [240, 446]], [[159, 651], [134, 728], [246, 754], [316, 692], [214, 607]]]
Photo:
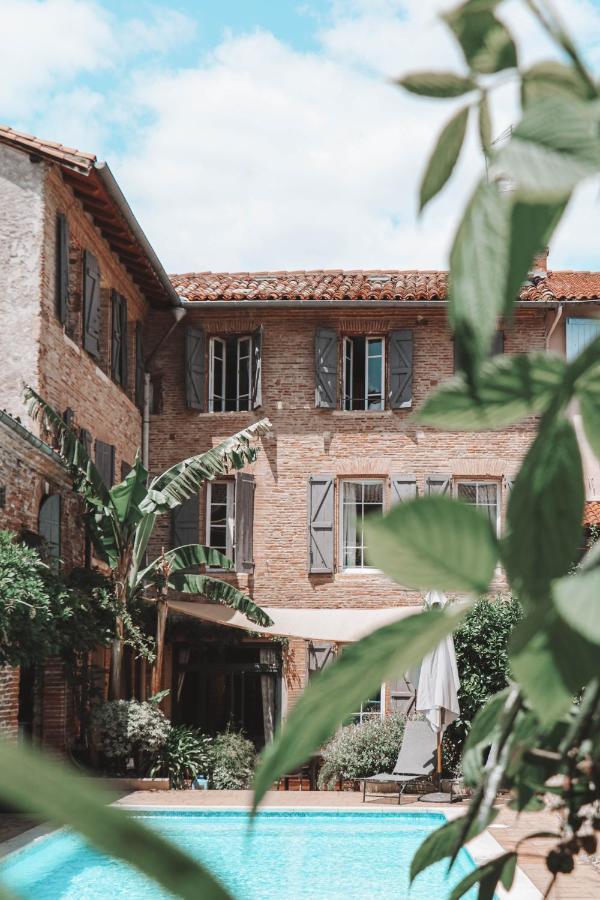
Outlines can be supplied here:
[[252, 358], [250, 335], [210, 339], [210, 412], [236, 412], [252, 408]]

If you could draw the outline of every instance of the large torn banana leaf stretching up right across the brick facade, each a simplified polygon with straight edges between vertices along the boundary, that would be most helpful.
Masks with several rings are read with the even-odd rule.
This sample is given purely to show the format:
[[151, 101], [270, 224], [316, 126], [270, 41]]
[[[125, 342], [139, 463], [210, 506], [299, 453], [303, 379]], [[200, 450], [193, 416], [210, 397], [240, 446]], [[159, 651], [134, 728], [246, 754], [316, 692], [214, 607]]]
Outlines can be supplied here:
[[253, 445], [253, 441], [270, 430], [269, 420], [260, 419], [206, 453], [191, 456], [167, 469], [150, 483], [148, 496], [140, 504], [141, 511], [168, 512], [192, 497], [203, 482], [254, 462], [258, 448]]

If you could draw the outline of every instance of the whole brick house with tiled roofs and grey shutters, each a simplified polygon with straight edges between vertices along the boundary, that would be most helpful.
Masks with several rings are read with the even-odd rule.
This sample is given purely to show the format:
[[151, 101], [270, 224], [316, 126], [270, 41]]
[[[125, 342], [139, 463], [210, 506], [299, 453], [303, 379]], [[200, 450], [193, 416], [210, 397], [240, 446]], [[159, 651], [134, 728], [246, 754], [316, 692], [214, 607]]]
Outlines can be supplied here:
[[[268, 416], [256, 464], [163, 517], [153, 548], [221, 549], [235, 562], [223, 577], [270, 610], [275, 626], [261, 634], [230, 627], [244, 625], [239, 614], [200, 597], [174, 597], [164, 672], [175, 721], [217, 729], [232, 720], [261, 743], [339, 644], [419, 607], [418, 594], [369, 568], [365, 516], [448, 492], [500, 529], [535, 421], [476, 435], [415, 424], [414, 411], [455, 367], [445, 273], [204, 272], [168, 281], [107, 172], [93, 157], [0, 129], [0, 524], [37, 530], [44, 501], [60, 495], [69, 534], [61, 555], [67, 565], [84, 559], [77, 500], [51, 451], [36, 445], [21, 381], [70, 410], [107, 477], [119, 477], [140, 445], [159, 472]], [[90, 319], [86, 291], [98, 281]], [[599, 330], [599, 302], [600, 274], [551, 272], [540, 258], [514, 323], [499, 323], [494, 352], [571, 356]], [[174, 309], [185, 311], [181, 324]], [[600, 500], [596, 464], [584, 455], [588, 499]], [[14, 724], [18, 674], [0, 677], [0, 721]], [[356, 713], [407, 702], [410, 685], [400, 680]]]

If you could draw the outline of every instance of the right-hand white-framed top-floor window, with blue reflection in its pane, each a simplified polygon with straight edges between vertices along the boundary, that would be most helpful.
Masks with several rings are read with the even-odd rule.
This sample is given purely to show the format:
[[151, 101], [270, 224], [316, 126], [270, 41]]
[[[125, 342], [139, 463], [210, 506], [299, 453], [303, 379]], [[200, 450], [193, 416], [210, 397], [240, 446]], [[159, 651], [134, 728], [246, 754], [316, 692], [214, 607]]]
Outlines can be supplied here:
[[383, 409], [384, 339], [344, 338], [344, 409]]

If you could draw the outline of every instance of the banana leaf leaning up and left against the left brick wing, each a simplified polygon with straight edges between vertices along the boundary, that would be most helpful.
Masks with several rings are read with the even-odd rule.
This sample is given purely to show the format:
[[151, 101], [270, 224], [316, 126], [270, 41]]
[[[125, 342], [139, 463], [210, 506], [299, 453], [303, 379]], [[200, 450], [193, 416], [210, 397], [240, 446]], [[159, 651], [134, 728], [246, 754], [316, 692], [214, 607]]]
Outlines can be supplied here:
[[24, 396], [29, 404], [29, 415], [33, 419], [41, 419], [49, 429], [57, 431], [60, 438], [59, 455], [70, 469], [75, 488], [86, 504], [98, 510], [112, 507], [110, 490], [75, 431], [33, 388], [26, 387]]

